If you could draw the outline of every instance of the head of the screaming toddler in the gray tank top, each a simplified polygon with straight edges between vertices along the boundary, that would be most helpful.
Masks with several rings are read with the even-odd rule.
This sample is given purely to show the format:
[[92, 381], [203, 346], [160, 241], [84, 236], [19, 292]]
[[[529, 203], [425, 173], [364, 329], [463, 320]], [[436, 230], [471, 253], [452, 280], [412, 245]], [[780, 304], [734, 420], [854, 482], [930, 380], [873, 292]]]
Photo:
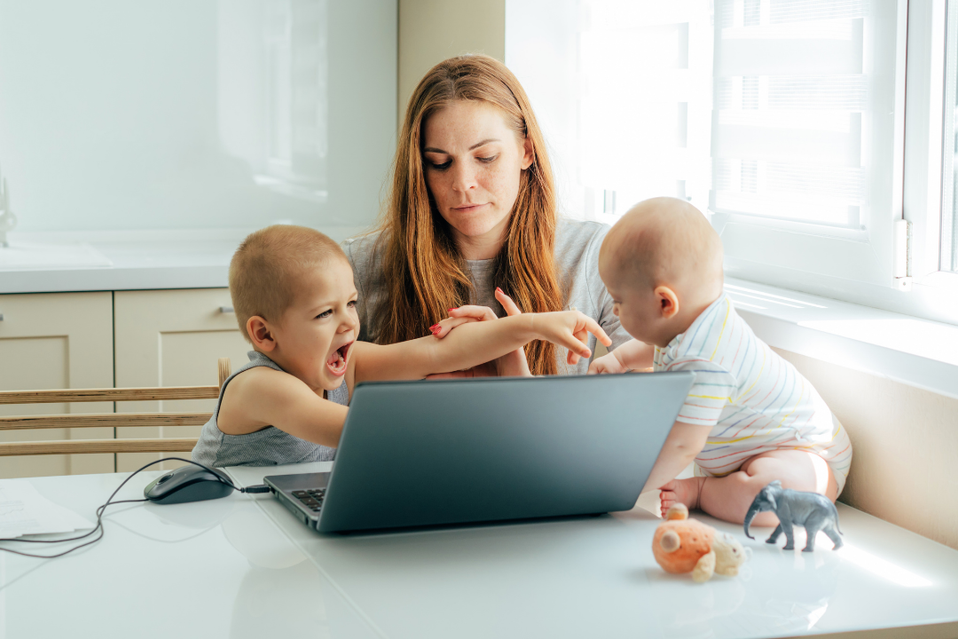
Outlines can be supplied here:
[[353, 268], [339, 245], [303, 226], [269, 226], [230, 262], [239, 330], [253, 348], [313, 390], [346, 374], [359, 331]]

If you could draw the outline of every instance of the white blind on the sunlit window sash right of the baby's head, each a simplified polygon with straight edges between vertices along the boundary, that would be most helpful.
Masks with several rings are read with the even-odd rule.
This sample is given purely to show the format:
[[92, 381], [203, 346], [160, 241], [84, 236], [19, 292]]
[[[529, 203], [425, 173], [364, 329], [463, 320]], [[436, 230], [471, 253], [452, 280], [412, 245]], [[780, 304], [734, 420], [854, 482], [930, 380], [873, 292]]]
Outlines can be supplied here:
[[864, 228], [868, 0], [716, 0], [720, 214]]

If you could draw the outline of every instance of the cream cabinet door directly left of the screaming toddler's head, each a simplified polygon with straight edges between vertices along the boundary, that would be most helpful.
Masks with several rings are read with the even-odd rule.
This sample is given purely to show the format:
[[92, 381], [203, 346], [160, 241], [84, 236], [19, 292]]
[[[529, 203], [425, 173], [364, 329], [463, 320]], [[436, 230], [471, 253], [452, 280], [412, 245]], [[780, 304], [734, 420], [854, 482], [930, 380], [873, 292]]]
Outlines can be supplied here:
[[[234, 370], [247, 361], [228, 288], [135, 290], [114, 293], [116, 385], [204, 386], [217, 383], [217, 359]], [[117, 402], [117, 412], [213, 411], [216, 399]], [[117, 438], [197, 437], [200, 426], [117, 428]], [[118, 470], [135, 470], [161, 457], [190, 453], [121, 453]], [[179, 463], [157, 465], [162, 468]]]

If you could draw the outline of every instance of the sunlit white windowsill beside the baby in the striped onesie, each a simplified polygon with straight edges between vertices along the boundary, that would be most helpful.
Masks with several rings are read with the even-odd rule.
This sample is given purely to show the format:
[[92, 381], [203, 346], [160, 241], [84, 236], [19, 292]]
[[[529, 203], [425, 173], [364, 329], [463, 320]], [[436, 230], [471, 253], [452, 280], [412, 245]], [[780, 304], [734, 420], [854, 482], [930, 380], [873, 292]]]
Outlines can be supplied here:
[[958, 326], [726, 278], [769, 346], [958, 399]]

